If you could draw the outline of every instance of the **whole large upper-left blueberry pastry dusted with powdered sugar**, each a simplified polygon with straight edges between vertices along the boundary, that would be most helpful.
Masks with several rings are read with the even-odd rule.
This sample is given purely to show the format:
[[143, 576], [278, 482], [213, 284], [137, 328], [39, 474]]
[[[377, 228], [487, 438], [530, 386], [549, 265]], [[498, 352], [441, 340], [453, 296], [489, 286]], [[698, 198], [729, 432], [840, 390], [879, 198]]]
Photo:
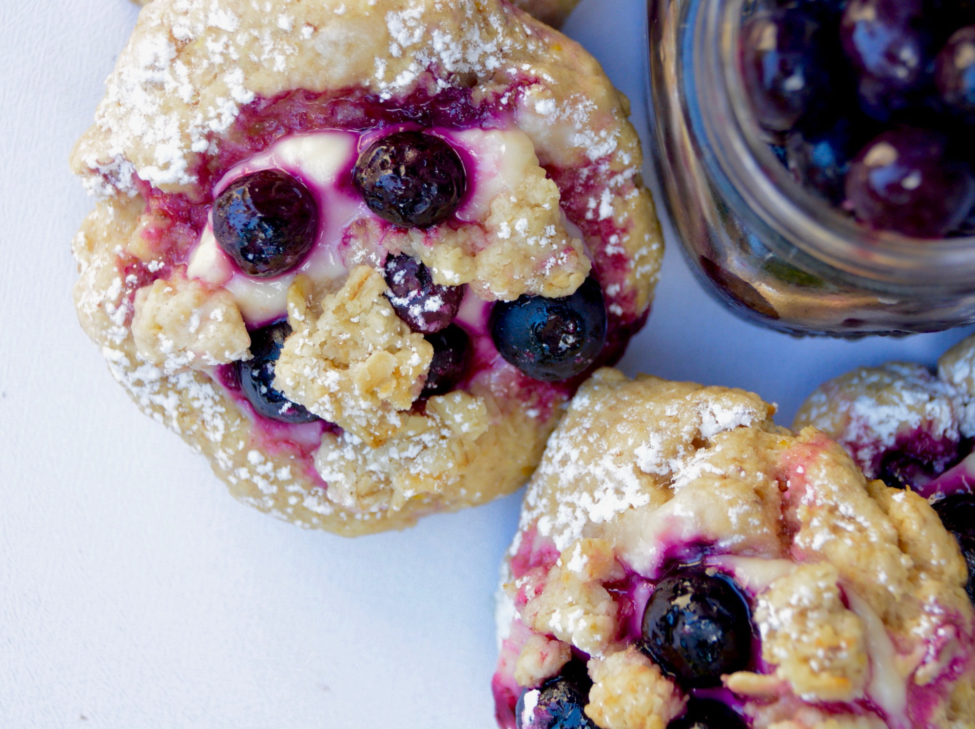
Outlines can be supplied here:
[[259, 509], [355, 535], [485, 502], [645, 321], [627, 113], [497, 0], [153, 0], [72, 156], [82, 325]]

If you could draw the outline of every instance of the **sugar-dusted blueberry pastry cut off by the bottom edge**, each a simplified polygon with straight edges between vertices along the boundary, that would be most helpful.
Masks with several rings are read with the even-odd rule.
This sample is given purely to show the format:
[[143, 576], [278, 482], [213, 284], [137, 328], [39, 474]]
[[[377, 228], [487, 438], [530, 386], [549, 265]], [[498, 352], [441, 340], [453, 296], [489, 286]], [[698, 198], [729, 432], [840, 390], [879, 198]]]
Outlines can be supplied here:
[[582, 385], [502, 570], [502, 727], [973, 725], [956, 541], [773, 411], [609, 368]]

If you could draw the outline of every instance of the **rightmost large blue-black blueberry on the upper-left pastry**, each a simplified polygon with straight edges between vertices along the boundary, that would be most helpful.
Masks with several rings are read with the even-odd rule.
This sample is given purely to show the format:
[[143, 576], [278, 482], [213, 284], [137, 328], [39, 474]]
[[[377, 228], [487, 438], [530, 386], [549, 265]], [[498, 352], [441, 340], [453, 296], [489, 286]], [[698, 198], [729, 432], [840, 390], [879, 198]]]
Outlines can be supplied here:
[[498, 301], [491, 338], [507, 362], [536, 380], [565, 380], [584, 372], [603, 351], [603, 289], [592, 278], [562, 298], [520, 296]]

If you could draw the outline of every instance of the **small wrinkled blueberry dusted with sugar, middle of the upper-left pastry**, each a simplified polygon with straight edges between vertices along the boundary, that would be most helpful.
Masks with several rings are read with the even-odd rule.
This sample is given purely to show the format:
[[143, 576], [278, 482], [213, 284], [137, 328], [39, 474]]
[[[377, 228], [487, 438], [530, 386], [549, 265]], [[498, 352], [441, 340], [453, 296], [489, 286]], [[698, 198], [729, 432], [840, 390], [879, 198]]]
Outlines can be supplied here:
[[464, 287], [433, 283], [430, 269], [401, 253], [386, 258], [386, 294], [397, 316], [413, 331], [432, 334], [448, 326], [460, 311]]

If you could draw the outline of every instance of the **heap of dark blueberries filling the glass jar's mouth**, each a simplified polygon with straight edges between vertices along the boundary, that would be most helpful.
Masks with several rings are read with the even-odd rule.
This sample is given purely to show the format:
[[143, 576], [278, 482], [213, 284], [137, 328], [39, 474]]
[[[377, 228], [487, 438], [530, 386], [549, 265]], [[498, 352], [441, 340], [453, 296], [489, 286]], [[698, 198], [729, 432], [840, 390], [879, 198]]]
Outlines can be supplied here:
[[742, 79], [800, 184], [864, 225], [975, 228], [975, 2], [759, 0]]

